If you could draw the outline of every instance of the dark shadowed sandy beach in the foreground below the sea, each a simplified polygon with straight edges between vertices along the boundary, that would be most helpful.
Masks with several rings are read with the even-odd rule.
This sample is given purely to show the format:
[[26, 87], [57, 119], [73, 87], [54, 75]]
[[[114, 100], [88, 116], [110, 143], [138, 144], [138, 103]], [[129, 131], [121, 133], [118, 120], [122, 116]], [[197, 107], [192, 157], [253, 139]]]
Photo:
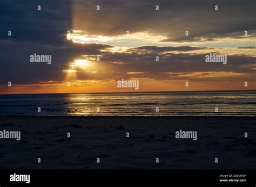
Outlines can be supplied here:
[[[0, 169], [256, 167], [254, 117], [1, 116], [0, 124], [21, 131], [19, 141], [0, 139]], [[177, 139], [180, 130], [197, 131], [197, 140]]]

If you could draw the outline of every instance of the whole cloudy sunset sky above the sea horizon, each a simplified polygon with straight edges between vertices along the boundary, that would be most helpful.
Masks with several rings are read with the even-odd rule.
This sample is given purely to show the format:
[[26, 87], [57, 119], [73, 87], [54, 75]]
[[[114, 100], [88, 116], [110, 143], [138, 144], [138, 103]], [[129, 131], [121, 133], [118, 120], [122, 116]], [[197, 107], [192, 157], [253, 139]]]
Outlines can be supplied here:
[[[0, 94], [256, 90], [255, 10], [248, 0], [2, 0]], [[118, 88], [122, 79], [139, 89]]]

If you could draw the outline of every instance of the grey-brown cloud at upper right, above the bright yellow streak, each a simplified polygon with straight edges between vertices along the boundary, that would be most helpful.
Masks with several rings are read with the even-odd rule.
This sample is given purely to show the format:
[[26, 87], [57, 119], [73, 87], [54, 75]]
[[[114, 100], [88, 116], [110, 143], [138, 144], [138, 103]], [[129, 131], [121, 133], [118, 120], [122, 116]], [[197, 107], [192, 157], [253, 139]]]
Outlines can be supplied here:
[[[100, 11], [96, 11], [100, 5]], [[159, 5], [159, 11], [156, 11]], [[219, 10], [215, 11], [214, 6]], [[148, 31], [163, 41], [255, 37], [255, 1], [74, 1], [73, 26], [90, 34]], [[185, 31], [189, 37], [185, 37]]]

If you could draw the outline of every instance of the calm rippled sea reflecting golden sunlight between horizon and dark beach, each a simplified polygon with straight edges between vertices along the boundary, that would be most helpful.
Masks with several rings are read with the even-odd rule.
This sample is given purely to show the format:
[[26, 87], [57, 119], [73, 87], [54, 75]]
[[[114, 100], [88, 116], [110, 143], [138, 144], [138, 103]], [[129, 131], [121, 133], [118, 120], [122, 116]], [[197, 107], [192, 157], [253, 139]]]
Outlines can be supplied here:
[[256, 91], [0, 95], [0, 115], [256, 116], [255, 104]]

